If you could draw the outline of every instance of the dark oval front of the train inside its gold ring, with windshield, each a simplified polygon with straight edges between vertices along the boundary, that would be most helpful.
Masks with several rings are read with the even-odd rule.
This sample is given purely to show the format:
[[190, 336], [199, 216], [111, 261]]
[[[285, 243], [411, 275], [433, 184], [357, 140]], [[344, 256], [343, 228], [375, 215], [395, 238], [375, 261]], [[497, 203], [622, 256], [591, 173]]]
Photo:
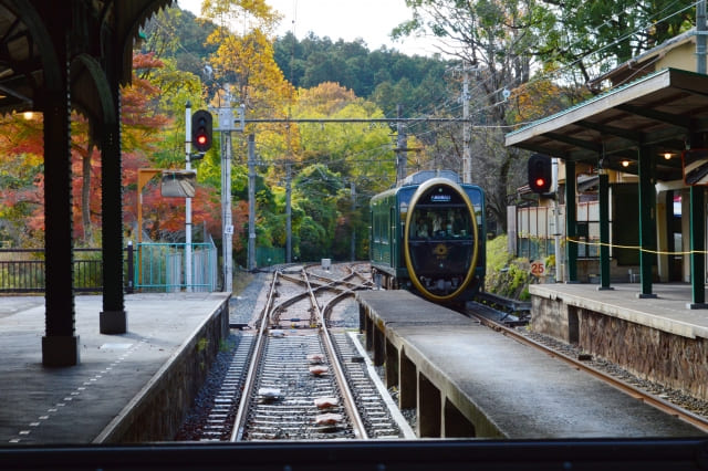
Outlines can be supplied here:
[[447, 295], [465, 281], [475, 252], [476, 218], [449, 187], [434, 187], [412, 209], [408, 250], [418, 281]]

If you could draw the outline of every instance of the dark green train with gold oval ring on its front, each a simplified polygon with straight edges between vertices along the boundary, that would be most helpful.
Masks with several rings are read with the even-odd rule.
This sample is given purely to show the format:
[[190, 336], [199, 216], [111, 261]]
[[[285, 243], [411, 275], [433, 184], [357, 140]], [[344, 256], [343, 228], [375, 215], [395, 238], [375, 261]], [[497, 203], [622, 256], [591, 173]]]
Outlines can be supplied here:
[[420, 171], [371, 201], [371, 263], [386, 289], [437, 303], [485, 283], [485, 193], [449, 170]]

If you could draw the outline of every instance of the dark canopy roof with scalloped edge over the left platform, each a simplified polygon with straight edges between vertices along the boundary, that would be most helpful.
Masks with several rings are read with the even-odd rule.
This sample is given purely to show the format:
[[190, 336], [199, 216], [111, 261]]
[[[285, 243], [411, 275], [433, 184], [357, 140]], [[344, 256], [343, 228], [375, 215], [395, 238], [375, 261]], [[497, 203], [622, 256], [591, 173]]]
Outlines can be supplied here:
[[[70, 2], [51, 3], [44, 0], [17, 2], [0, 0], [0, 114], [39, 109], [42, 90], [52, 81], [48, 65], [54, 57], [53, 35], [71, 34], [72, 53], [77, 51], [92, 55], [97, 63], [105, 62], [103, 55], [119, 54], [122, 70], [116, 73], [121, 84], [131, 82], [133, 71], [133, 44], [138, 38], [139, 28], [159, 9], [175, 0], [92, 0], [73, 2], [79, 13], [71, 21], [58, 20], [59, 13], [69, 15], [64, 10]], [[66, 3], [64, 7], [63, 3]], [[58, 9], [59, 12], [58, 12]], [[110, 20], [110, 21], [108, 21]], [[103, 21], [103, 22], [102, 22]], [[112, 30], [117, 51], [102, 51], [108, 48], [102, 44], [106, 29]], [[84, 34], [82, 36], [82, 34]], [[70, 57], [70, 60], [75, 56]], [[100, 107], [96, 90], [85, 62], [79, 66], [72, 64], [71, 100], [73, 106], [98, 121]], [[59, 66], [59, 64], [54, 64]], [[65, 66], [62, 64], [62, 66]], [[98, 123], [100, 124], [100, 123]]]

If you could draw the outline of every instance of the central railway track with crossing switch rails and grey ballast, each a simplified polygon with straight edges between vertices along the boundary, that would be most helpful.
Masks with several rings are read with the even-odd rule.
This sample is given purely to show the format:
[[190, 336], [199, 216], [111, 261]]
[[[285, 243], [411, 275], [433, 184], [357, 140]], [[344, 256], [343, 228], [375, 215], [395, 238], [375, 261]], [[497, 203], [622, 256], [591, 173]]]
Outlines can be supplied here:
[[371, 285], [362, 268], [275, 272], [201, 440], [414, 438], [355, 335], [337, 321], [342, 301]]

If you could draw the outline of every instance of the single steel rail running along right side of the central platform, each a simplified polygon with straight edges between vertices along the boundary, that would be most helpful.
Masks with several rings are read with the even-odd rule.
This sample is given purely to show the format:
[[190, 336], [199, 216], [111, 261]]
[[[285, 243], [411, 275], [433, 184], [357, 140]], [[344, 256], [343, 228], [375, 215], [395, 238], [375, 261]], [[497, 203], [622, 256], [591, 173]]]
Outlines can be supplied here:
[[607, 384], [610, 384], [611, 386], [620, 389], [621, 391], [632, 396], [635, 399], [638, 399], [649, 406], [655, 407], [656, 409], [659, 409], [660, 411], [668, 414], [670, 416], [677, 417], [680, 420], [684, 420], [690, 425], [693, 425], [694, 427], [708, 432], [708, 419], [700, 417], [689, 410], [686, 410], [679, 406], [676, 406], [667, 400], [664, 400], [657, 396], [654, 396], [645, 390], [642, 390], [635, 386], [632, 386], [631, 384], [623, 381], [621, 379], [617, 379], [615, 377], [613, 377], [612, 375], [605, 374], [603, 371], [601, 371], [597, 368], [593, 368], [592, 366], [577, 360], [575, 358], [572, 358], [568, 355], [564, 355], [560, 352], [554, 350], [551, 347], [548, 347], [539, 342], [535, 342], [524, 335], [519, 334], [518, 332], [516, 332], [512, 328], [509, 328], [504, 325], [498, 324], [494, 321], [491, 321], [489, 318], [486, 318], [483, 316], [477, 315], [475, 313], [468, 312], [467, 314], [473, 316], [475, 318], [479, 320], [479, 322], [482, 325], [486, 325], [487, 327], [490, 327], [497, 332], [500, 332], [502, 335], [507, 335], [509, 337], [512, 337], [514, 341], [522, 343], [524, 345], [531, 346], [531, 347], [535, 347], [542, 352], [544, 352], [545, 354], [548, 354], [549, 356], [552, 356], [554, 358], [561, 359], [568, 364], [570, 364], [571, 366], [573, 366], [574, 368], [581, 370], [581, 371], [585, 371], [592, 376], [594, 376], [595, 378], [598, 378]]

